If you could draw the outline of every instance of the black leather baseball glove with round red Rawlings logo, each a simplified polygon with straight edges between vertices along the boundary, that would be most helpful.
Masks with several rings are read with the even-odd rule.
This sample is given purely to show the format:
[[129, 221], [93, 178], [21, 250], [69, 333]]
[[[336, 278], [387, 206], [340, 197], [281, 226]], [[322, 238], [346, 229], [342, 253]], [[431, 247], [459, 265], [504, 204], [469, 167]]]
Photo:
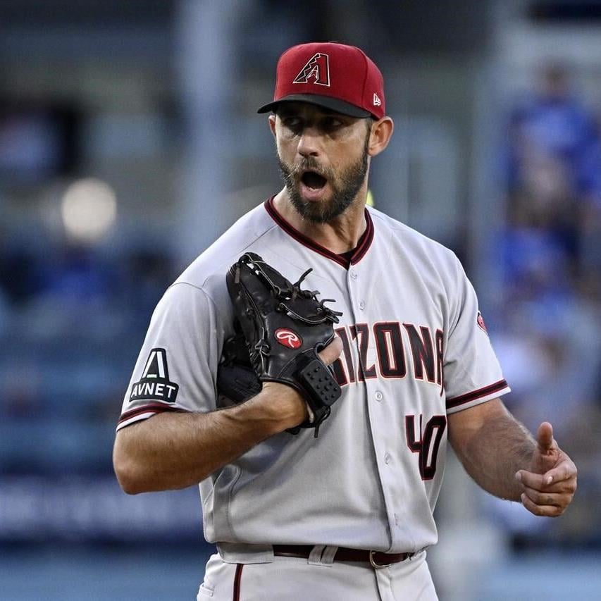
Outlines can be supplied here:
[[296, 428], [315, 428], [315, 436], [340, 386], [318, 352], [334, 338], [340, 311], [318, 300], [317, 290], [302, 290], [305, 271], [292, 284], [258, 254], [243, 254], [226, 275], [236, 315], [235, 334], [225, 341], [217, 390], [234, 402], [256, 395], [262, 382], [280, 382], [306, 400], [309, 419]]

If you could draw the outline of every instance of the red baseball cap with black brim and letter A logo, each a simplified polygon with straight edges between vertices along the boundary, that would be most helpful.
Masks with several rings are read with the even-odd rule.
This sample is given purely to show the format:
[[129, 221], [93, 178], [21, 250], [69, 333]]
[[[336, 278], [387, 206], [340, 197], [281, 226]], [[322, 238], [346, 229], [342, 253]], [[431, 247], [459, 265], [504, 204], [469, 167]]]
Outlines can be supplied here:
[[301, 101], [351, 117], [385, 116], [384, 79], [364, 51], [337, 42], [299, 44], [287, 49], [275, 71], [273, 101], [258, 113], [275, 111], [280, 102]]

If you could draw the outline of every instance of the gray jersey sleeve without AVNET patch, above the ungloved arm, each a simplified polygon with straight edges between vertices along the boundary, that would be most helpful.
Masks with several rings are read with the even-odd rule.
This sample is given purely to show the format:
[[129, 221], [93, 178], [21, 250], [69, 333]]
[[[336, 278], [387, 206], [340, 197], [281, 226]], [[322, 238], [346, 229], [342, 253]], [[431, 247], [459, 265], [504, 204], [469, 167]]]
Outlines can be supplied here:
[[457, 261], [457, 297], [450, 310], [444, 353], [447, 414], [469, 409], [511, 390], [478, 310], [476, 291]]

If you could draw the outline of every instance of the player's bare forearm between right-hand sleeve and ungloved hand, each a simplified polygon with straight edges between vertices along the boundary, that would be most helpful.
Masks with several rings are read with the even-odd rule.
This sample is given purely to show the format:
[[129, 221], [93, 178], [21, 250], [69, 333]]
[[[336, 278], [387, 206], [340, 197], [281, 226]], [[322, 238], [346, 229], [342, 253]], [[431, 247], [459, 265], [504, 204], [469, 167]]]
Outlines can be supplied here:
[[454, 423], [450, 416], [450, 442], [478, 485], [502, 499], [519, 501], [523, 488], [515, 474], [530, 465], [535, 440], [500, 401], [473, 409], [487, 414], [486, 419], [466, 424]]

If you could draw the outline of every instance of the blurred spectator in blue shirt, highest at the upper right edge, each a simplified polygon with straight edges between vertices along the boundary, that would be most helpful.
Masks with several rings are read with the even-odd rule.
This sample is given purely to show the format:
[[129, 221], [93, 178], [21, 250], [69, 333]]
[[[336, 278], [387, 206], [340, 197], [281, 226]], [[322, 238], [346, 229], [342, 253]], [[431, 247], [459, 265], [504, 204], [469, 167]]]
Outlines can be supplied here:
[[[570, 70], [546, 63], [535, 92], [516, 104], [508, 127], [506, 189], [513, 221], [543, 228], [578, 272], [601, 268], [601, 138], [598, 119], [571, 86]], [[597, 248], [595, 248], [597, 247]]]

